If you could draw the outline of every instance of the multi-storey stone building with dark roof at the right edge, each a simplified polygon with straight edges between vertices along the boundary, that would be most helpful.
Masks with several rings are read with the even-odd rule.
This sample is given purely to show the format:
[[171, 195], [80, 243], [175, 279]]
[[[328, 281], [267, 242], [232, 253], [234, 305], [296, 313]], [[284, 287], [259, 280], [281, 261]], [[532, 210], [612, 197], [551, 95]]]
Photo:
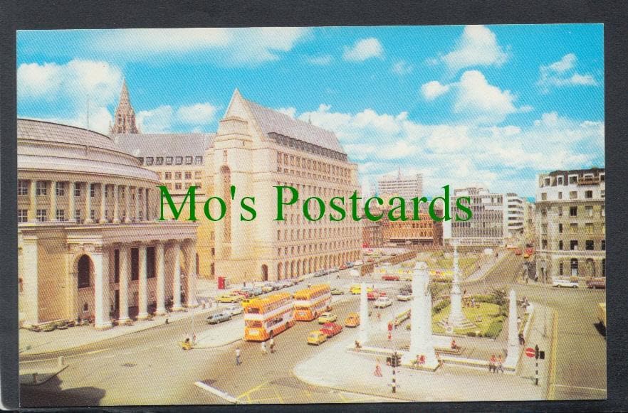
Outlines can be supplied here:
[[538, 176], [535, 223], [537, 274], [606, 277], [605, 169]]

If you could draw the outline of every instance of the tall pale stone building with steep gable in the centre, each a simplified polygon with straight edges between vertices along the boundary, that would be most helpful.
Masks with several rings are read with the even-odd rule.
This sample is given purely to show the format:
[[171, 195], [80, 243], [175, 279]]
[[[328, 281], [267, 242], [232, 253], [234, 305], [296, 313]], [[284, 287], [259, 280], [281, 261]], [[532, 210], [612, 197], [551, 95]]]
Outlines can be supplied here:
[[[348, 161], [333, 132], [245, 100], [236, 90], [205, 160], [209, 185], [227, 204], [226, 216], [214, 223], [216, 276], [284, 279], [360, 257], [361, 222], [350, 217], [332, 222], [329, 210], [318, 221], [303, 216], [309, 197], [328, 203], [334, 196], [348, 200], [359, 193], [357, 165]], [[231, 186], [236, 187], [233, 199]], [[298, 203], [286, 207], [284, 221], [274, 220], [274, 186], [298, 190]], [[251, 221], [241, 220], [245, 196], [255, 197], [257, 216]], [[288, 200], [287, 192], [283, 198]], [[217, 203], [211, 208], [217, 215]], [[315, 207], [310, 211], [315, 217], [320, 212]]]

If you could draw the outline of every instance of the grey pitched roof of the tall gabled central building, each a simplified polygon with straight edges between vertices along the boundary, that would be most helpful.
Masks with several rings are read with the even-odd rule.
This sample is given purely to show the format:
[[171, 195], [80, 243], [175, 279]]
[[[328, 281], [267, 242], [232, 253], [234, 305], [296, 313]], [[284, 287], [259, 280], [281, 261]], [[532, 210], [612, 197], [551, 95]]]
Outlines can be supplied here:
[[[289, 117], [287, 114], [264, 107], [251, 100], [246, 100], [240, 95], [237, 89], [234, 91], [233, 97], [231, 97], [229, 107], [231, 107], [231, 104], [234, 104], [235, 100], [242, 100], [248, 106], [251, 114], [253, 114], [253, 117], [255, 117], [256, 122], [262, 129], [262, 132], [266, 135], [276, 133], [283, 136], [290, 136], [293, 139], [298, 139], [308, 144], [345, 154], [345, 150], [342, 149], [334, 132]], [[229, 112], [229, 109], [227, 109], [227, 112]]]

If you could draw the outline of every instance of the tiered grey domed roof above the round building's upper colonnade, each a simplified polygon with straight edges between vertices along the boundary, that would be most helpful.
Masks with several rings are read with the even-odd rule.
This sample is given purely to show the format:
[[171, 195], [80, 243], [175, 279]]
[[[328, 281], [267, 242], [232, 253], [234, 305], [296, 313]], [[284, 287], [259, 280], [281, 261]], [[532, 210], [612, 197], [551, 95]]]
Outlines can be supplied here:
[[[141, 136], [141, 135], [139, 135]], [[159, 182], [159, 176], [112, 139], [88, 129], [52, 122], [18, 119], [18, 171], [135, 178]]]

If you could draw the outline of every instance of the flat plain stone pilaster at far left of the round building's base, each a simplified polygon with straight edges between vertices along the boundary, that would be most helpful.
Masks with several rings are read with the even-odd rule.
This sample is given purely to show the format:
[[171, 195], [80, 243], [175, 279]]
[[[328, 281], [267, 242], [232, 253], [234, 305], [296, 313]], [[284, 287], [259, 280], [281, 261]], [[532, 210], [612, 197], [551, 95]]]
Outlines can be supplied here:
[[[34, 183], [34, 181], [32, 181]], [[24, 323], [39, 322], [39, 281], [38, 281], [38, 252], [37, 237], [24, 237], [22, 242], [22, 287], [25, 313]]]

